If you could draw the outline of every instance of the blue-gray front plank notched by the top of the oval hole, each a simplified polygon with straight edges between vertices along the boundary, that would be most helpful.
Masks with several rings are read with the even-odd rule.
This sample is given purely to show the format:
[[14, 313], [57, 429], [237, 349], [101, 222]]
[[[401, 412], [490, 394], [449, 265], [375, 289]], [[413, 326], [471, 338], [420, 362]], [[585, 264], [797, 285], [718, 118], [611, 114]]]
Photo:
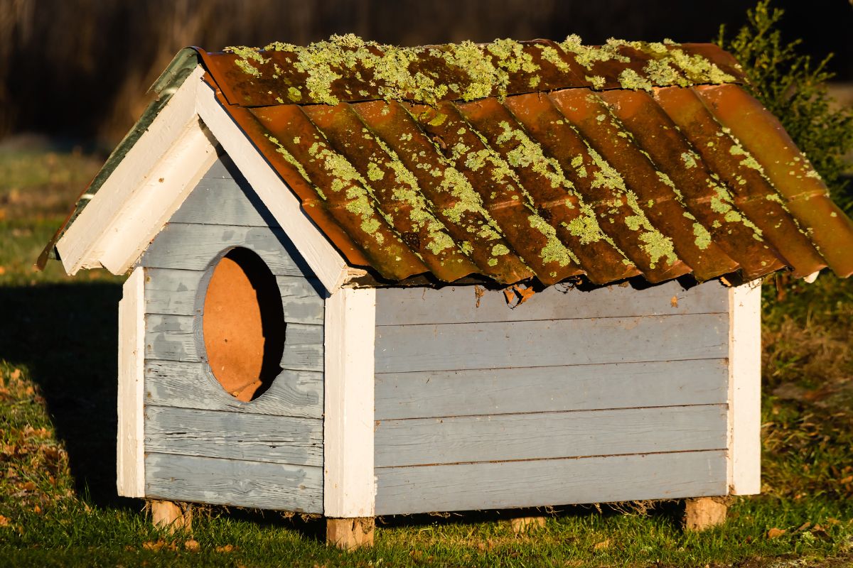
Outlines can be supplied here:
[[276, 276], [314, 278], [281, 229], [167, 223], [142, 255], [142, 266], [205, 270], [223, 250], [241, 246], [258, 253]]

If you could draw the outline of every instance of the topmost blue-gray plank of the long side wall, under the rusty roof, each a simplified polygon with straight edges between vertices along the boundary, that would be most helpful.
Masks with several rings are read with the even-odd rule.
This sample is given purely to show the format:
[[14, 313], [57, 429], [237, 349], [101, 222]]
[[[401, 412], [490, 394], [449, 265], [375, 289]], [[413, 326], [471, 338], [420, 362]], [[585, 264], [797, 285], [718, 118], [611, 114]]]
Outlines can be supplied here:
[[[380, 288], [376, 324], [465, 324], [537, 319], [614, 318], [676, 313], [728, 313], [728, 289], [711, 281], [684, 290], [676, 281], [635, 290], [612, 285], [592, 291], [546, 288], [514, 309], [500, 290], [474, 286]], [[478, 293], [482, 296], [478, 297]], [[673, 301], [675, 299], [675, 301]]]

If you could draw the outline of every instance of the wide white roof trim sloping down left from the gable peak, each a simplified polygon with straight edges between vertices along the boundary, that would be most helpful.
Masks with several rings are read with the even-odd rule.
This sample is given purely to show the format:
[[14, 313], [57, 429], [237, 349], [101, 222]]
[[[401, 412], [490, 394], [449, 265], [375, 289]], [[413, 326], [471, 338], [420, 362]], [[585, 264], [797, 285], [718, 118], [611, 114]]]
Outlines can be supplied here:
[[203, 75], [187, 77], [56, 244], [67, 273], [127, 272], [216, 161], [195, 112]]

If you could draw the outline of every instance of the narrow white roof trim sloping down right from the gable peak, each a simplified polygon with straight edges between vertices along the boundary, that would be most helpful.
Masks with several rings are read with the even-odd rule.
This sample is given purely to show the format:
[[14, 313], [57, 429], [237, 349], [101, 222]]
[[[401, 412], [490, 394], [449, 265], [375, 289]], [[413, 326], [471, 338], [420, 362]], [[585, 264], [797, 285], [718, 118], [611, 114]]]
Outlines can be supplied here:
[[[281, 180], [263, 154], [258, 151], [245, 132], [235, 123], [216, 99], [213, 89], [202, 83], [196, 107], [199, 116], [246, 176], [249, 185], [279, 222], [287, 237], [293, 240], [299, 254], [314, 271], [330, 294], [349, 281], [355, 274], [344, 258], [305, 215], [299, 198]], [[357, 273], [364, 273], [357, 271]]]

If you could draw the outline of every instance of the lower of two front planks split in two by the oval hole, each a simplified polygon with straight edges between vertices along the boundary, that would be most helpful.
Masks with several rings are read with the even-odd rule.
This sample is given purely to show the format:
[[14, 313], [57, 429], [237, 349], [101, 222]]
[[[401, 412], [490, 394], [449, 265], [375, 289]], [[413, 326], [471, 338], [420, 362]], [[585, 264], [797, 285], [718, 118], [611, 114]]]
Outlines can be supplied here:
[[[145, 316], [146, 359], [200, 361], [202, 353], [194, 316], [149, 313]], [[287, 324], [281, 368], [323, 370], [323, 326]]]

